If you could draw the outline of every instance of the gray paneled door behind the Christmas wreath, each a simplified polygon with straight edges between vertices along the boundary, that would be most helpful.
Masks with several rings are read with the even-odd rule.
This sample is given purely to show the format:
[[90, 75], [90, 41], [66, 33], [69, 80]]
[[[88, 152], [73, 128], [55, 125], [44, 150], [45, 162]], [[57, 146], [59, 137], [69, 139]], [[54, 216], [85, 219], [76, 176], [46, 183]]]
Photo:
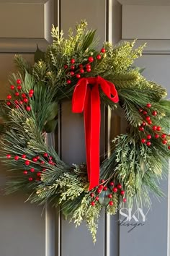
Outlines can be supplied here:
[[[169, 1], [142, 0], [0, 0], [0, 100], [7, 93], [8, 72], [14, 71], [12, 59], [22, 53], [33, 62], [36, 43], [45, 48], [50, 43], [53, 23], [63, 28], [86, 19], [89, 27], [98, 28], [104, 40], [139, 38], [148, 41], [148, 48], [139, 66], [147, 67], [148, 79], [169, 88]], [[145, 17], [145, 19], [143, 18]], [[169, 90], [170, 93], [170, 90]], [[111, 120], [112, 125], [109, 125]], [[71, 102], [61, 106], [61, 130], [58, 132], [59, 153], [68, 163], [85, 161], [84, 124], [81, 114], [71, 113]], [[105, 125], [106, 124], [106, 125]], [[111, 130], [110, 130], [111, 128]], [[101, 152], [109, 148], [109, 139], [121, 129], [121, 115], [102, 108]], [[51, 141], [52, 140], [52, 141]], [[48, 143], [53, 143], [54, 136]], [[1, 167], [1, 187], [5, 170]], [[168, 182], [162, 181], [168, 195]], [[121, 216], [109, 218], [101, 214], [97, 243], [85, 224], [75, 228], [65, 221], [58, 209], [30, 205], [27, 197], [0, 197], [0, 256], [166, 256], [169, 255], [169, 201], [153, 199], [146, 222], [128, 233], [127, 226], [119, 226]], [[143, 209], [146, 213], [148, 209]]]

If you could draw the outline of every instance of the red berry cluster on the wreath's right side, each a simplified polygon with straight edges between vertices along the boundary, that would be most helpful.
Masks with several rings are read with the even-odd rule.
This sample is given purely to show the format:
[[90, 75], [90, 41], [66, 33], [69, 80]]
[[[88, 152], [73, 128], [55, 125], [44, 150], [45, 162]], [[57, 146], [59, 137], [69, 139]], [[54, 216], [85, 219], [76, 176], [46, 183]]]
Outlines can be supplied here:
[[[139, 109], [141, 116], [143, 116], [143, 123], [140, 124], [139, 130], [140, 130], [140, 132], [143, 132], [144, 135], [145, 135], [145, 137], [143, 137], [141, 139], [141, 142], [143, 144], [146, 143], [147, 146], [151, 146], [151, 139], [160, 138], [162, 144], [166, 145], [168, 143], [168, 140], [166, 140], [166, 137], [169, 136], [169, 135], [166, 135], [164, 132], [161, 132], [161, 127], [160, 126], [157, 126], [157, 125], [153, 124], [153, 119], [151, 119], [151, 116], [148, 114], [148, 108], [151, 109], [151, 103], [148, 103], [146, 105], [145, 109], [142, 109], [142, 108]], [[155, 116], [157, 116], [157, 114], [158, 114], [157, 111], [155, 111], [155, 110], [150, 111], [150, 112], [151, 112], [151, 115], [152, 115], [153, 118]], [[153, 135], [151, 135], [149, 133], [146, 133], [145, 127], [150, 128], [151, 133]], [[168, 146], [168, 149], [170, 150], [170, 146]]]

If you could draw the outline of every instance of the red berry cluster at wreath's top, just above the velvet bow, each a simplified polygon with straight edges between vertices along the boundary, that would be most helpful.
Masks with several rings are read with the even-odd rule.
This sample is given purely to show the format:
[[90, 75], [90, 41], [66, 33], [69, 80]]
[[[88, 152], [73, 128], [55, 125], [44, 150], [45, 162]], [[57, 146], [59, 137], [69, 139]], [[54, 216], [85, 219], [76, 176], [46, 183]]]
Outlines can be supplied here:
[[[100, 54], [97, 54], [96, 59], [100, 60], [102, 59], [102, 54], [104, 54], [106, 50], [104, 48], [101, 49]], [[76, 77], [77, 79], [81, 78], [81, 75], [84, 74], [84, 72], [91, 72], [91, 63], [94, 62], [94, 57], [89, 56], [88, 62], [86, 64], [79, 64], [78, 67], [76, 67], [76, 60], [71, 59], [71, 66], [68, 67], [68, 65], [64, 65], [64, 69], [66, 69], [66, 72], [71, 77]], [[71, 79], [67, 80], [67, 84], [71, 84]]]

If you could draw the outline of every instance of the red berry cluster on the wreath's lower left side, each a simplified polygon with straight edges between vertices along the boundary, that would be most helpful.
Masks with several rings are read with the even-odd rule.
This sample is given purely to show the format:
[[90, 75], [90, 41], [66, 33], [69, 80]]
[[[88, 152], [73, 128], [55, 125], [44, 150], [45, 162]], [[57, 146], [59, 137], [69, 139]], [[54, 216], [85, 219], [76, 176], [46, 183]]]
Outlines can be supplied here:
[[[7, 159], [12, 159], [12, 155], [6, 155]], [[43, 155], [36, 155], [32, 159], [27, 158], [27, 155], [14, 155], [14, 161], [23, 161], [26, 166], [23, 174], [28, 175], [28, 180], [32, 182], [33, 180], [40, 181], [42, 172], [46, 171], [45, 161], [52, 166], [55, 166], [55, 162], [53, 161], [53, 157], [48, 155], [48, 153], [44, 153]], [[36, 164], [34, 167], [29, 168], [30, 164]], [[38, 167], [38, 171], [36, 171]]]

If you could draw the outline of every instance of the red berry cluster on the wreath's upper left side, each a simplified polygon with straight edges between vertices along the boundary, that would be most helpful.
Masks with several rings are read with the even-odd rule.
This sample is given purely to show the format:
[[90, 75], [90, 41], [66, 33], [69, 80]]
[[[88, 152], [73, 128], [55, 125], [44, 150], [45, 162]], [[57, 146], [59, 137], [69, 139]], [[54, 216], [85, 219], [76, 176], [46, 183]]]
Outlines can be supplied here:
[[[32, 98], [34, 94], [34, 90], [31, 89], [29, 93], [24, 93], [22, 90], [22, 81], [20, 79], [17, 79], [17, 86], [11, 85], [10, 88], [12, 91], [12, 95], [9, 94], [7, 95], [7, 106], [12, 106], [12, 100], [14, 101], [14, 106], [15, 108], [19, 108], [20, 106], [24, 106], [24, 108], [27, 111], [31, 111], [31, 107], [28, 105], [29, 104], [29, 99]], [[11, 100], [11, 101], [10, 101]]]

